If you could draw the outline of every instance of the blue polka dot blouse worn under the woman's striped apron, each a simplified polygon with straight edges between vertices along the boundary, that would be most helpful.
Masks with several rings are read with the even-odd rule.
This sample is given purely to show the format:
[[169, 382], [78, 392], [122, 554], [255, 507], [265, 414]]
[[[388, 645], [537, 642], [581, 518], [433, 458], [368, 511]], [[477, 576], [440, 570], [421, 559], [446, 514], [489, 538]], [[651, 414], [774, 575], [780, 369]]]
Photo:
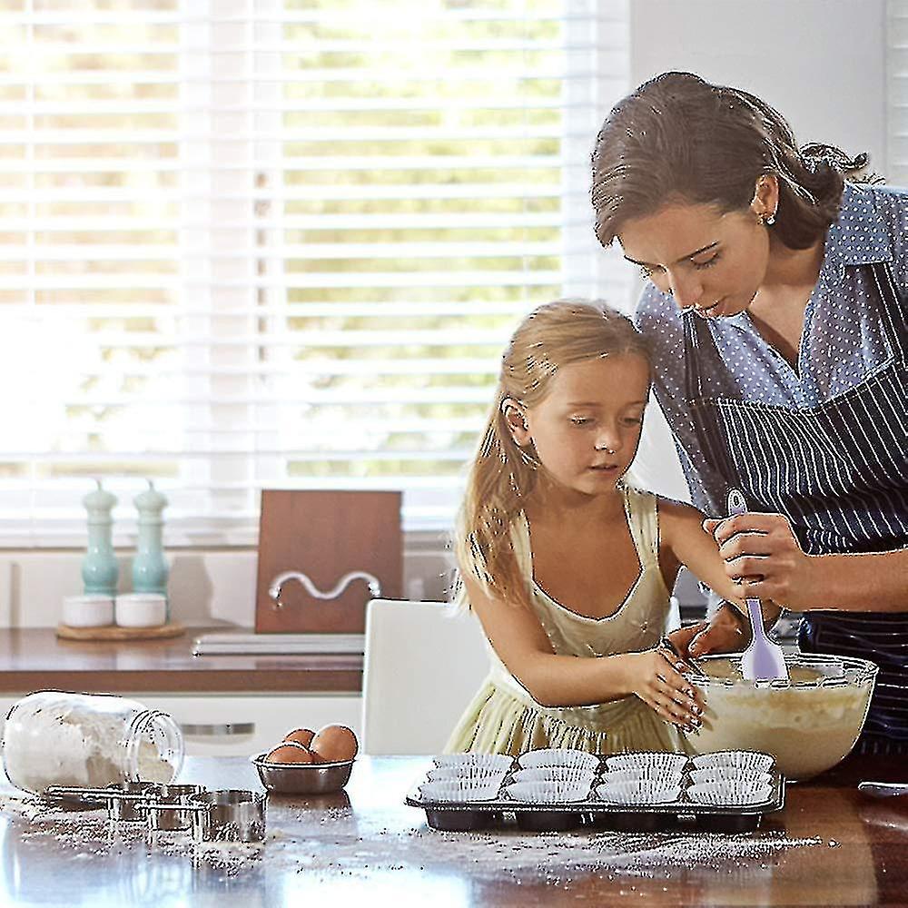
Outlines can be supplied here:
[[[846, 184], [807, 303], [797, 370], [764, 340], [746, 311], [711, 319], [716, 352], [703, 351], [700, 369], [706, 395], [799, 410], [854, 388], [883, 366], [892, 353], [882, 303], [873, 275], [861, 267], [871, 262], [892, 263], [908, 306], [908, 192]], [[686, 406], [681, 314], [670, 294], [647, 282], [636, 321], [653, 346], [656, 398], [675, 433], [692, 501], [709, 514], [723, 513], [723, 483], [700, 453]]]

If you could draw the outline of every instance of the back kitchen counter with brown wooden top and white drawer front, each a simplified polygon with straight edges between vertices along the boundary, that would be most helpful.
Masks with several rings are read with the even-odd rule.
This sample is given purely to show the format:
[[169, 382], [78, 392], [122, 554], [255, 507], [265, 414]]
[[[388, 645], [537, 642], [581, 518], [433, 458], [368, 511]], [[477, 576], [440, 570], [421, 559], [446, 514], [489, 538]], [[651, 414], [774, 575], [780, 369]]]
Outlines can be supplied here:
[[188, 755], [249, 756], [292, 728], [360, 735], [362, 656], [192, 656], [172, 640], [62, 641], [48, 628], [0, 632], [0, 721], [17, 699], [56, 689], [130, 696], [183, 726]]

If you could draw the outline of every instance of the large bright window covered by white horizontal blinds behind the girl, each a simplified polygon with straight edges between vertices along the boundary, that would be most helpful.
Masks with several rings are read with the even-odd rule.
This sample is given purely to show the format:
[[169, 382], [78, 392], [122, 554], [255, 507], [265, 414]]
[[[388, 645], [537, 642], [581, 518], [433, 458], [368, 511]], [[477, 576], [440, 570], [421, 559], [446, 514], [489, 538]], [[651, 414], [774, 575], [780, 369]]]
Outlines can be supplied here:
[[[518, 318], [627, 298], [589, 154], [627, 4], [6, 0], [0, 543], [254, 541], [262, 488], [445, 525]], [[125, 534], [125, 535], [124, 535]]]

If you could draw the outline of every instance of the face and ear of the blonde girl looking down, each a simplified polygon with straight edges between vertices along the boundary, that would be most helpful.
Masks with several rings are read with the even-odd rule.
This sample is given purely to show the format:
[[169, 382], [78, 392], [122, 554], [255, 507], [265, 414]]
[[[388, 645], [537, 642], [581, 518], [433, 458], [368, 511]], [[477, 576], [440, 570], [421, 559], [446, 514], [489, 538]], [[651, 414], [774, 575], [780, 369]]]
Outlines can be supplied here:
[[649, 366], [613, 354], [562, 366], [546, 397], [507, 410], [519, 445], [532, 443], [556, 487], [584, 495], [615, 488], [637, 454], [649, 396]]

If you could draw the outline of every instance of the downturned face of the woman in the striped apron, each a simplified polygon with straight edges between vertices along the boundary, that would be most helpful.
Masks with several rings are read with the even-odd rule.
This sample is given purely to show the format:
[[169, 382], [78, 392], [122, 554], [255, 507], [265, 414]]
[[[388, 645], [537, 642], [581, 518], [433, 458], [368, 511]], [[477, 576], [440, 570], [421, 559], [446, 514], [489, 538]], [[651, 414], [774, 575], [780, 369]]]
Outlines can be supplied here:
[[769, 263], [769, 232], [752, 209], [722, 213], [712, 205], [670, 204], [628, 221], [618, 242], [679, 309], [693, 307], [706, 319], [745, 311]]

